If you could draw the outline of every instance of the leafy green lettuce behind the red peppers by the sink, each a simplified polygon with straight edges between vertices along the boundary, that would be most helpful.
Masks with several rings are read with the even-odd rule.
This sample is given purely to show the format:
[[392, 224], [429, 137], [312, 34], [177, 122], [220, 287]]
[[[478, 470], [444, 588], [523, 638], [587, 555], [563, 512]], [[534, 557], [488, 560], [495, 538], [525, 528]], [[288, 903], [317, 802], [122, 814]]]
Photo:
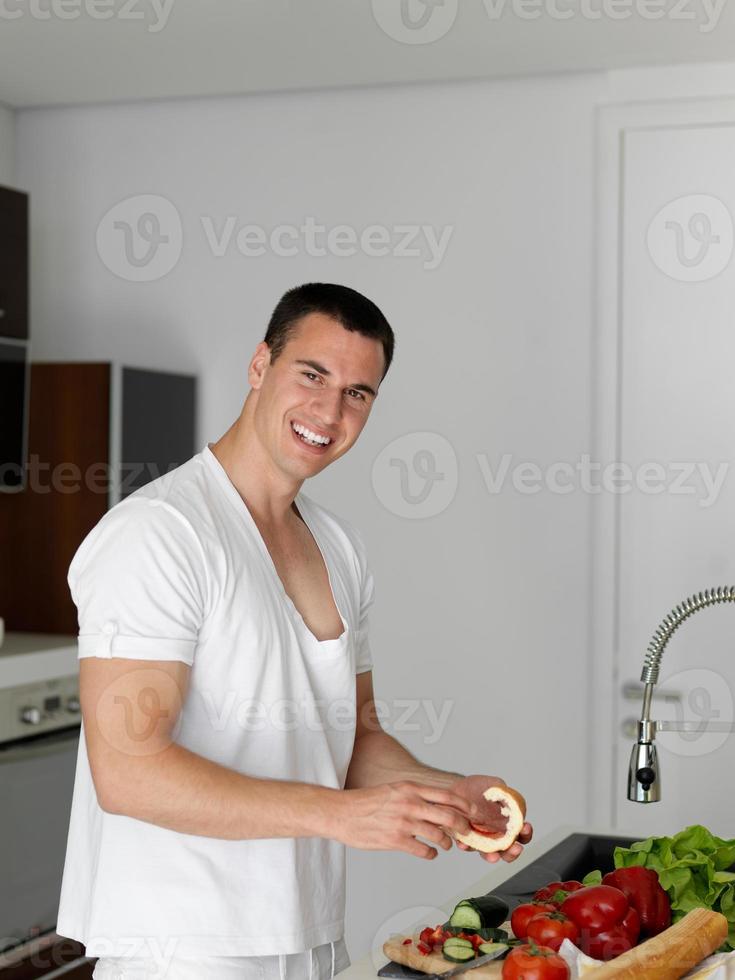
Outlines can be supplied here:
[[630, 847], [616, 847], [616, 868], [642, 865], [658, 873], [671, 901], [673, 922], [696, 908], [721, 912], [730, 924], [721, 947], [735, 949], [735, 840], [715, 837], [695, 824], [673, 837], [649, 837]]

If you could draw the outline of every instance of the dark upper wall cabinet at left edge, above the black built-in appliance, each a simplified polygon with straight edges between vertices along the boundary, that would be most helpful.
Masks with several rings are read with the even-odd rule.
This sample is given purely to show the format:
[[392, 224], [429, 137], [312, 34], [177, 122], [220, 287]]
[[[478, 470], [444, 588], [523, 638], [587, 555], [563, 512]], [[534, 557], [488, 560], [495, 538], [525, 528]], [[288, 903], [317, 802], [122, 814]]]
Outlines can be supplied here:
[[0, 187], [0, 337], [28, 339], [28, 195]]

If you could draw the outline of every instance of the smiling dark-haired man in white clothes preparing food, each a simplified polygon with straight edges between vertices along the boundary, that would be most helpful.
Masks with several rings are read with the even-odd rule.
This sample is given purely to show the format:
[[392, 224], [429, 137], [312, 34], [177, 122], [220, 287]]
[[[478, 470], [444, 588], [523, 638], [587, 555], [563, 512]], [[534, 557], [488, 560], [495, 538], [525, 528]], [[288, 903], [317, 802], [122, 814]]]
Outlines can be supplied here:
[[392, 355], [364, 296], [291, 290], [237, 421], [74, 556], [84, 737], [57, 930], [96, 978], [333, 977], [344, 846], [433, 859], [469, 829], [457, 774], [377, 723], [365, 547], [301, 492]]

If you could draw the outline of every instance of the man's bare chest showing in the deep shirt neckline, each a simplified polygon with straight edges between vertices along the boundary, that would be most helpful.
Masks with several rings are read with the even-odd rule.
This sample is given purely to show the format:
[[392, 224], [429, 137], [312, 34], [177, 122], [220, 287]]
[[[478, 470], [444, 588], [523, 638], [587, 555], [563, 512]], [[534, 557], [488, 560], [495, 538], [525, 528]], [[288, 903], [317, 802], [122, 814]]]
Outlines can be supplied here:
[[278, 537], [261, 529], [286, 595], [317, 640], [331, 640], [343, 630], [324, 559], [308, 527], [298, 521]]

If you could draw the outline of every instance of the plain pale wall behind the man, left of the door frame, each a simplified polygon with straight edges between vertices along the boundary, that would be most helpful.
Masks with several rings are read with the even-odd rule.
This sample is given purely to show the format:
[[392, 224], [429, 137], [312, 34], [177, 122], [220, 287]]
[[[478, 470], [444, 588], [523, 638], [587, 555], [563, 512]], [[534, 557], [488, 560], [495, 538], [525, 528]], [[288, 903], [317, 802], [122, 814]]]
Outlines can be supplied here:
[[[18, 116], [18, 174], [33, 196], [37, 359], [121, 358], [196, 369], [200, 445], [239, 411], [246, 366], [287, 287], [344, 282], [384, 309], [396, 360], [360, 443], [307, 487], [363, 530], [377, 580], [377, 695], [452, 702], [422, 760], [497, 773], [544, 834], [585, 811], [588, 500], [489, 493], [477, 462], [576, 461], [589, 449], [594, 107], [598, 76], [323, 92]], [[95, 247], [108, 209], [164, 195], [181, 261], [150, 283], [116, 278]], [[444, 261], [215, 258], [200, 217], [266, 229], [451, 225]], [[406, 433], [449, 441], [459, 484], [437, 516], [403, 519], [371, 485]], [[438, 460], [440, 469], [445, 461]], [[420, 489], [419, 483], [412, 485]], [[412, 719], [413, 721], [413, 719]], [[392, 913], [437, 903], [483, 872], [351, 852], [353, 958]]]

